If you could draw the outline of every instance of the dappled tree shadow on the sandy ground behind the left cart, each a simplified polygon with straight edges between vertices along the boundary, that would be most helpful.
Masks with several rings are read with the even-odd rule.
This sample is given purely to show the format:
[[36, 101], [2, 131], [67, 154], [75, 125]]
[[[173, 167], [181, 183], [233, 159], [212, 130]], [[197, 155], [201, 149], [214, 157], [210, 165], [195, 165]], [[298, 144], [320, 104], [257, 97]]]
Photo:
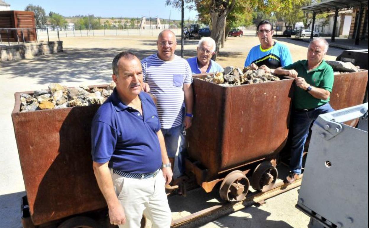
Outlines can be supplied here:
[[38, 84], [79, 82], [81, 80], [111, 81], [111, 62], [121, 51], [131, 51], [142, 59], [156, 52], [127, 48], [68, 48], [64, 52], [34, 59], [1, 62], [1, 75], [37, 79]]

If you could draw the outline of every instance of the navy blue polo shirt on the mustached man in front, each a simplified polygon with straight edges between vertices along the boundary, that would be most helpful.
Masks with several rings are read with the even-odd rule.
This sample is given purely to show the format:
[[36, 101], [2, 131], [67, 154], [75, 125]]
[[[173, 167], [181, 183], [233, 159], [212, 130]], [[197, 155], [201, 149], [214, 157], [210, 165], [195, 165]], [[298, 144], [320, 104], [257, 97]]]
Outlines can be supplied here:
[[139, 93], [143, 116], [120, 101], [116, 89], [97, 110], [91, 129], [92, 159], [109, 168], [148, 174], [161, 167], [156, 133], [161, 125], [151, 97]]

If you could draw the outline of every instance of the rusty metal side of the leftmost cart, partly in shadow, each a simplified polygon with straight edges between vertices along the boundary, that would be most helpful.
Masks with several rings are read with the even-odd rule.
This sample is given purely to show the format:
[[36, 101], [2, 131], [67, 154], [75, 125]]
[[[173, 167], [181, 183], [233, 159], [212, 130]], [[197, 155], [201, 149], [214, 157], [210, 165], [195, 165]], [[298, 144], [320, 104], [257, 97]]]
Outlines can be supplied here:
[[11, 116], [35, 225], [106, 207], [91, 157], [91, 121], [98, 108], [19, 112], [15, 93]]

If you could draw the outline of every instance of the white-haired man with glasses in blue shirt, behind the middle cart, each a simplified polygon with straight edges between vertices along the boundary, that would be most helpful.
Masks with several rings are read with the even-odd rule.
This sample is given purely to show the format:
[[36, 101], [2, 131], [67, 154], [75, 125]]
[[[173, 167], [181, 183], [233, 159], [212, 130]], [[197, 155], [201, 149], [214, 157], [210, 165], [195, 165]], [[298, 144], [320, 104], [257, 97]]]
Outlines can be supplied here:
[[223, 67], [211, 60], [214, 53], [215, 41], [211, 37], [202, 38], [197, 46], [197, 56], [186, 59], [192, 74], [223, 72]]

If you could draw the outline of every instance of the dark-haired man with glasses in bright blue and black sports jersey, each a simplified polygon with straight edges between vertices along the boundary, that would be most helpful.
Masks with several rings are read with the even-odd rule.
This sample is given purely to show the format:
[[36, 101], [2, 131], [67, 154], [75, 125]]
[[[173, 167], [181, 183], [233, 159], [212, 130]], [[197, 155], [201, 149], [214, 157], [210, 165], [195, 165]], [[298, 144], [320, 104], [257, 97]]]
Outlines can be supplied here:
[[257, 34], [260, 45], [251, 48], [245, 61], [245, 67], [251, 69], [264, 69], [265, 72], [274, 72], [278, 67], [292, 64], [290, 50], [286, 45], [273, 40], [273, 25], [267, 21], [261, 21], [257, 26]]

